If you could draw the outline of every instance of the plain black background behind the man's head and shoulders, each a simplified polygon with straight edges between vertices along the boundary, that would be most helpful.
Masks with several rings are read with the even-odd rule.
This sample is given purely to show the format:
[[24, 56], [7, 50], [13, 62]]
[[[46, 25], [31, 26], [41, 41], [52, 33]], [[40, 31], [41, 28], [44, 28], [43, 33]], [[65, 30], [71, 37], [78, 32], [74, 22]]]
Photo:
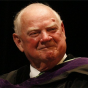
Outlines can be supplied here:
[[33, 2], [48, 3], [64, 22], [67, 54], [88, 57], [88, 1], [13, 0], [0, 1], [0, 75], [28, 64], [13, 42], [13, 19], [23, 7]]

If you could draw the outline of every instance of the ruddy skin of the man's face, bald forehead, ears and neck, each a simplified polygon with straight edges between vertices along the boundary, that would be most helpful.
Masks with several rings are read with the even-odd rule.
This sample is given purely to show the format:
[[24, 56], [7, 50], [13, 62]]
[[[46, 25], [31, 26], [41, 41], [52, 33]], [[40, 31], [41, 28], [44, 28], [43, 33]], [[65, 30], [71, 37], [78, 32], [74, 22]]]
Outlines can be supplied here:
[[25, 9], [21, 15], [21, 35], [14, 33], [13, 39], [39, 71], [53, 68], [66, 52], [64, 25], [45, 5], [32, 4]]

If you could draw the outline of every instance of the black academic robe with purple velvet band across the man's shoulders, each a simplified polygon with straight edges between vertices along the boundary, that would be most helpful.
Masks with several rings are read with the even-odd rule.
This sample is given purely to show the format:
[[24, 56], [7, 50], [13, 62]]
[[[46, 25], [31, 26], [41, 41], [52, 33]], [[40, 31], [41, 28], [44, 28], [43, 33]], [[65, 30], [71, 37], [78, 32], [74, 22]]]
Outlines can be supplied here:
[[[65, 61], [68, 59], [72, 59], [71, 55], [68, 56]], [[13, 84], [20, 84], [23, 82], [20, 84], [21, 87], [16, 85], [10, 88], [88, 88], [87, 59], [88, 58], [78, 58], [70, 61], [70, 63], [69, 61], [62, 63], [33, 79], [29, 78], [29, 66], [24, 66], [18, 70], [5, 74], [4, 76], [1, 76], [1, 78], [6, 79]], [[8, 82], [5, 82], [5, 84], [6, 83], [8, 84]]]

